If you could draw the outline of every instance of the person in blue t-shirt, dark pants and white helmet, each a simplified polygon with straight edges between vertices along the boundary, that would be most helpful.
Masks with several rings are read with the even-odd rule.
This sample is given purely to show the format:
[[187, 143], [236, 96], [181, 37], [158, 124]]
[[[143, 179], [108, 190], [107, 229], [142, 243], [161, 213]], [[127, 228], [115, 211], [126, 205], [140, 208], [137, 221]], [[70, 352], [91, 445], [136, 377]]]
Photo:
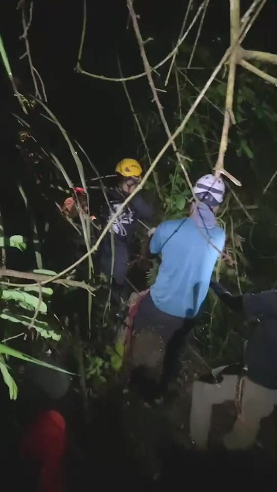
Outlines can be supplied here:
[[[160, 381], [164, 361], [162, 379], [167, 386], [167, 375], [178, 359], [176, 349], [184, 346], [184, 338], [201, 311], [215, 263], [224, 249], [225, 232], [215, 220], [224, 197], [223, 180], [208, 174], [196, 182], [193, 191], [196, 201], [190, 216], [162, 222], [150, 241], [151, 254], [161, 254], [162, 263], [134, 318], [131, 364], [133, 374], [139, 374], [133, 378], [137, 383], [146, 366], [152, 380]], [[150, 392], [151, 388], [152, 382]]]

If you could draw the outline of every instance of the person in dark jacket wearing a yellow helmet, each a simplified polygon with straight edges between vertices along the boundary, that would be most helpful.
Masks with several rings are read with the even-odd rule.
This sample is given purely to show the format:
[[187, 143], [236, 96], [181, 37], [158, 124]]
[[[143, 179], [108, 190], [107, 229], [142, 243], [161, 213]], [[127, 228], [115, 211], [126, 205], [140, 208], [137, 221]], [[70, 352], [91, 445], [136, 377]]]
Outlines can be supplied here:
[[[115, 172], [118, 182], [115, 188], [107, 189], [109, 207], [103, 212], [103, 219], [107, 223], [112, 215], [122, 206], [141, 180], [142, 167], [134, 159], [123, 159], [118, 162]], [[138, 193], [124, 208], [122, 213], [112, 223], [110, 233], [106, 234], [101, 245], [100, 264], [102, 272], [110, 278], [112, 275], [112, 297], [115, 303], [120, 298], [126, 298], [125, 279], [128, 273], [130, 247], [134, 238], [137, 219], [149, 221], [153, 215], [152, 207]], [[114, 238], [114, 262], [112, 269], [111, 232]]]

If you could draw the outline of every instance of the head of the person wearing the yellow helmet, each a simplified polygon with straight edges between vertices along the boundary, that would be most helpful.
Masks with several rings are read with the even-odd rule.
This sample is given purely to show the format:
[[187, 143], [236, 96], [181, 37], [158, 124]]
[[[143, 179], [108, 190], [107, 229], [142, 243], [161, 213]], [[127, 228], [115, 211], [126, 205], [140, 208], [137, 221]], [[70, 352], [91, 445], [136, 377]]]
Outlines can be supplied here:
[[118, 177], [118, 187], [125, 193], [132, 193], [141, 181], [142, 167], [135, 159], [123, 159], [118, 162], [115, 172]]

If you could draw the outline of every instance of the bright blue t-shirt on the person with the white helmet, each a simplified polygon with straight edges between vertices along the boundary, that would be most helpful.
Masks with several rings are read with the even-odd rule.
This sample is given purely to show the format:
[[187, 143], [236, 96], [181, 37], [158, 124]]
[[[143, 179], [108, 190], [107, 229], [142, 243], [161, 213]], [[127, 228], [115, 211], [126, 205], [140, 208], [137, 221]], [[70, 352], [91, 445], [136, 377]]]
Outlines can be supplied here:
[[222, 251], [224, 243], [225, 232], [219, 226], [199, 228], [192, 217], [162, 222], [150, 242], [152, 254], [162, 253], [159, 273], [150, 288], [156, 308], [173, 316], [194, 318], [206, 298], [220, 256], [217, 250]]

